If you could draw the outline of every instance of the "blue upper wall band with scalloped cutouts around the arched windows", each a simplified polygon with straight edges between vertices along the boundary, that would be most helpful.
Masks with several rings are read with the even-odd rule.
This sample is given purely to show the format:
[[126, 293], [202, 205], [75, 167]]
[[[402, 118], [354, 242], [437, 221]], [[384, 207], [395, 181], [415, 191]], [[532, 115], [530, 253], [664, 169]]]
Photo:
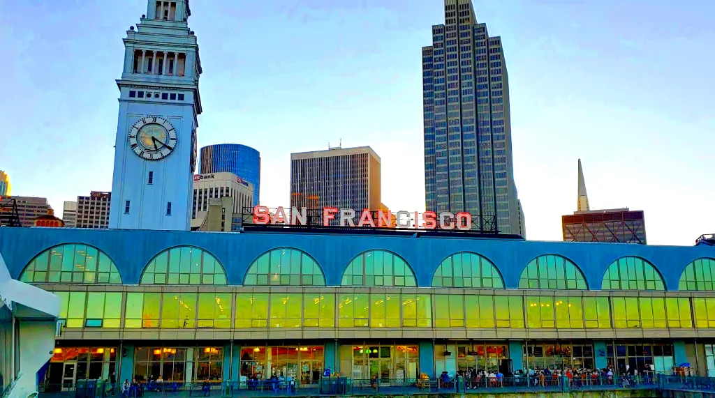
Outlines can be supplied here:
[[455, 252], [475, 252], [491, 260], [507, 288], [518, 287], [523, 268], [539, 255], [556, 254], [581, 268], [592, 290], [601, 288], [608, 265], [625, 256], [651, 262], [664, 277], [666, 290], [677, 290], [686, 265], [701, 257], [715, 258], [715, 247], [654, 246], [624, 243], [571, 243], [498, 238], [355, 235], [339, 233], [199, 233], [153, 230], [89, 230], [79, 228], [0, 228], [0, 253], [11, 275], [19, 277], [43, 250], [62, 243], [92, 245], [107, 253], [127, 285], [139, 283], [144, 266], [167, 248], [189, 245], [211, 252], [225, 267], [229, 285], [241, 285], [251, 262], [275, 248], [307, 252], [322, 267], [327, 285], [340, 285], [342, 272], [365, 250], [390, 250], [413, 268], [420, 287], [429, 287], [440, 262]]

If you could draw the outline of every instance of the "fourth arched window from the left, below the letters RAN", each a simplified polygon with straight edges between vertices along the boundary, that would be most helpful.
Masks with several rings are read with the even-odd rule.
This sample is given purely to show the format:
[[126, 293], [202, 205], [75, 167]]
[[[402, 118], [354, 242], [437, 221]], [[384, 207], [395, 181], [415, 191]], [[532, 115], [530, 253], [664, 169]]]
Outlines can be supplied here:
[[417, 286], [417, 278], [402, 257], [387, 250], [368, 250], [350, 261], [343, 286]]

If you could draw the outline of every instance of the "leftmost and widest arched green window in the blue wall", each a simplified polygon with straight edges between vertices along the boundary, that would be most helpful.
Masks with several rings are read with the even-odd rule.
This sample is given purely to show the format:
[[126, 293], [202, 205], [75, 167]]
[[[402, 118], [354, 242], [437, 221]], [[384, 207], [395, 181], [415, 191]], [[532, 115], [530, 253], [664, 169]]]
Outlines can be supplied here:
[[89, 245], [66, 243], [36, 255], [20, 275], [30, 283], [122, 283], [109, 256]]

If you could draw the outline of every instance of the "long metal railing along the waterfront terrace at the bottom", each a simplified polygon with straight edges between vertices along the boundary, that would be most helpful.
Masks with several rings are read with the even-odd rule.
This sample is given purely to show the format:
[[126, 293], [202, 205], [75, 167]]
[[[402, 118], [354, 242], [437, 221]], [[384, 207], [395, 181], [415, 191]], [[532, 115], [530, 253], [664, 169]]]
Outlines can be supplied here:
[[715, 392], [715, 377], [685, 377], [666, 374], [606, 376], [603, 374], [528, 375], [515, 377], [450, 377], [448, 379], [350, 379], [322, 377], [302, 384], [297, 380], [246, 380], [242, 382], [143, 382], [122, 391], [121, 384], [83, 380], [77, 384], [41, 384], [42, 397], [53, 398], [142, 398], [159, 394], [172, 397], [316, 397], [320, 395], [414, 395], [483, 394], [485, 392], [529, 392], [608, 389], [677, 389]]

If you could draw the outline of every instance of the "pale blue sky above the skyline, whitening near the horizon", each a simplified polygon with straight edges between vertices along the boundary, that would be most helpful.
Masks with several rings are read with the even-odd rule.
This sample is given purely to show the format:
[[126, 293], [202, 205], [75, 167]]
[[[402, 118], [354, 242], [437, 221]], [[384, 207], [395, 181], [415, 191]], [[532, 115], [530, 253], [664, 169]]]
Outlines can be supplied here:
[[[440, 0], [191, 0], [199, 147], [260, 150], [260, 202], [290, 153], [371, 146], [383, 203], [424, 210], [422, 46]], [[581, 158], [592, 209], [644, 210], [649, 244], [715, 233], [715, 2], [473, 0], [501, 36], [527, 238], [561, 240]], [[147, 0], [0, 0], [0, 170], [14, 195], [111, 190], [122, 39]]]

